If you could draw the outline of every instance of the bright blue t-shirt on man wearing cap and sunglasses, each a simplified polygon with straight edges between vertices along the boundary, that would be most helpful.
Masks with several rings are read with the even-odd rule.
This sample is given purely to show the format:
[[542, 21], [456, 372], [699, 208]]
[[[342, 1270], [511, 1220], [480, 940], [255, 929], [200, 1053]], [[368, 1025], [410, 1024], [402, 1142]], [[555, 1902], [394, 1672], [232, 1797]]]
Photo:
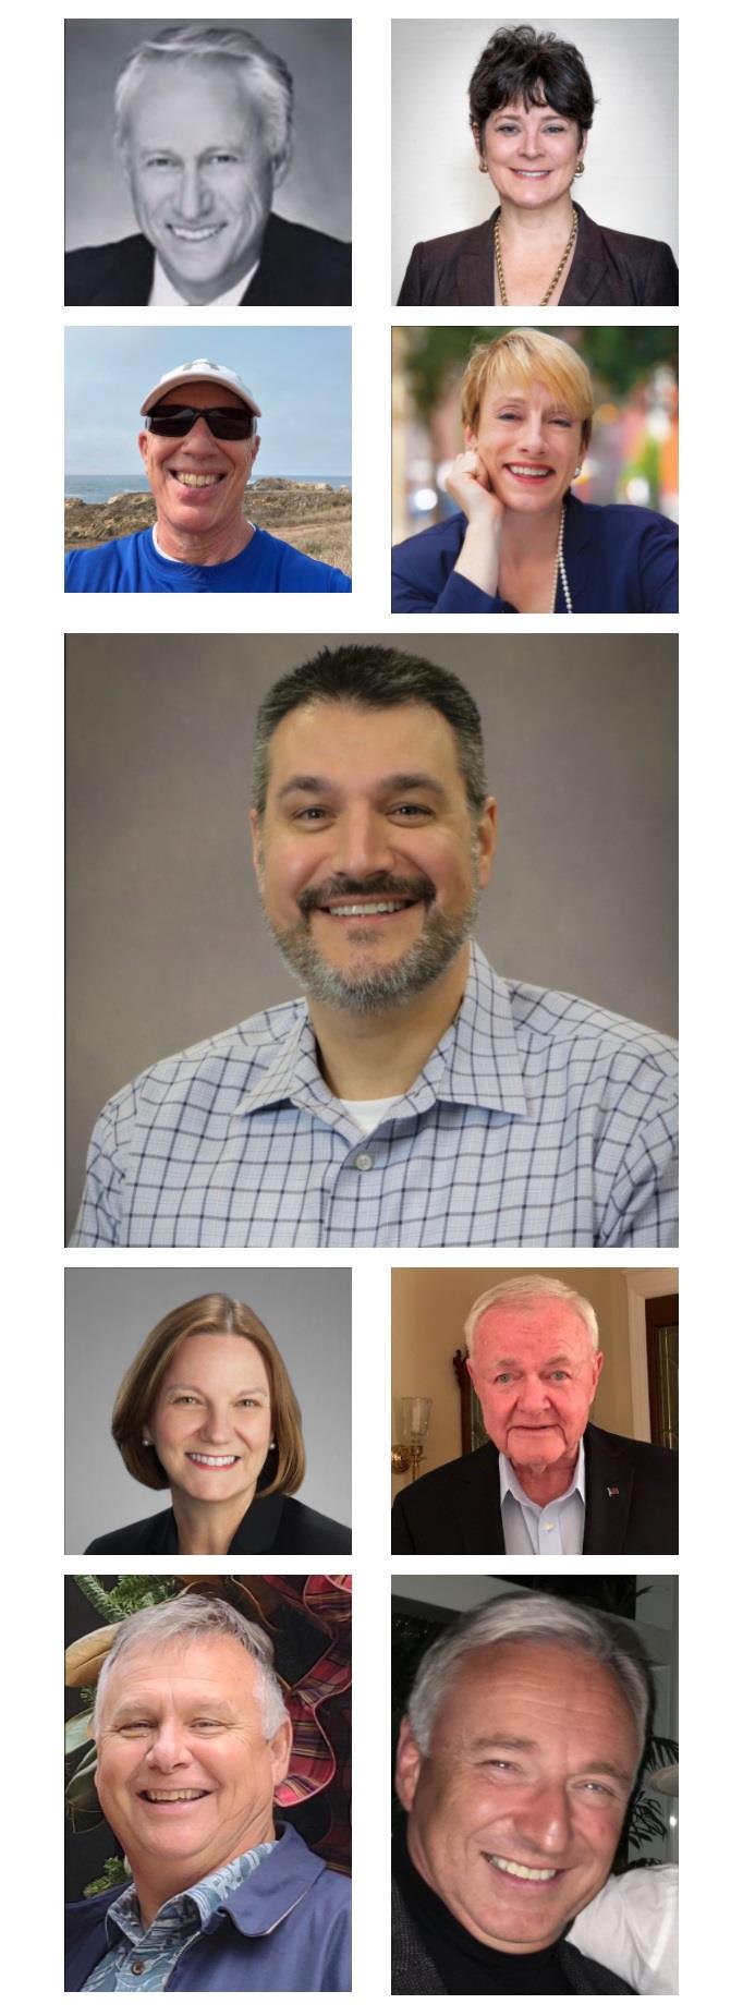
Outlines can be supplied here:
[[64, 587], [79, 595], [350, 595], [340, 566], [310, 560], [260, 526], [234, 560], [215, 566], [167, 560], [147, 526], [105, 546], [66, 552]]

